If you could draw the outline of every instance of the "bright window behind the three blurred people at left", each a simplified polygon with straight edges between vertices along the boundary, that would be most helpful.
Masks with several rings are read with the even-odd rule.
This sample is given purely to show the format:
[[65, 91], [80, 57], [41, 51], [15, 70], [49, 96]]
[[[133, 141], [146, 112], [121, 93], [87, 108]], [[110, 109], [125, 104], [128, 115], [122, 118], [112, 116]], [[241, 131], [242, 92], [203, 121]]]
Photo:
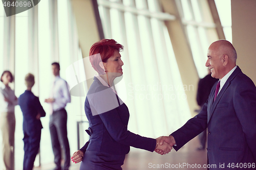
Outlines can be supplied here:
[[[0, 71], [11, 69], [15, 77], [15, 94], [18, 97], [26, 90], [25, 75], [31, 72], [35, 76], [35, 85], [32, 92], [39, 96], [40, 103], [46, 111], [46, 117], [41, 118], [42, 129], [40, 141], [41, 164], [49, 164], [54, 161], [50, 132], [49, 132], [49, 105], [44, 100], [49, 98], [53, 75], [51, 63], [60, 62], [60, 76], [66, 79], [66, 68], [77, 61], [79, 56], [78, 39], [72, 7], [69, 0], [54, 1], [56, 9], [49, 10], [53, 1], [40, 1], [34, 8], [6, 17], [3, 6], [0, 6]], [[56, 21], [52, 18], [57, 18]], [[13, 19], [10, 19], [13, 18]], [[13, 21], [15, 18], [15, 22]], [[11, 20], [11, 21], [10, 21]], [[54, 28], [51, 29], [50, 26]], [[57, 27], [59, 26], [59, 27]], [[6, 29], [7, 28], [7, 29]], [[50, 28], [50, 29], [49, 29]], [[12, 32], [15, 39], [11, 43]], [[55, 35], [52, 35], [52, 31]], [[4, 42], [4, 37], [7, 37]], [[56, 42], [59, 42], [56, 45]], [[56, 45], [52, 48], [52, 44]], [[7, 53], [4, 55], [4, 51]], [[12, 54], [15, 54], [14, 57]], [[59, 52], [59, 53], [55, 53]], [[57, 55], [53, 55], [57, 54]], [[9, 56], [8, 56], [9, 55]], [[11, 56], [11, 57], [10, 57]], [[15, 64], [14, 64], [15, 63]], [[12, 68], [12, 65], [14, 66]], [[13, 83], [12, 83], [13, 84]], [[83, 98], [73, 97], [67, 105], [68, 112], [68, 138], [71, 153], [77, 151], [76, 121], [81, 120], [83, 111]], [[15, 129], [15, 169], [23, 168], [24, 142], [23, 142], [23, 114], [19, 106], [15, 107], [16, 129]], [[75, 132], [75, 133], [74, 133]], [[0, 137], [2, 138], [2, 136]], [[0, 139], [2, 141], [2, 139]], [[0, 150], [2, 160], [2, 150]], [[35, 166], [39, 165], [38, 157]], [[0, 165], [1, 166], [1, 165]]]

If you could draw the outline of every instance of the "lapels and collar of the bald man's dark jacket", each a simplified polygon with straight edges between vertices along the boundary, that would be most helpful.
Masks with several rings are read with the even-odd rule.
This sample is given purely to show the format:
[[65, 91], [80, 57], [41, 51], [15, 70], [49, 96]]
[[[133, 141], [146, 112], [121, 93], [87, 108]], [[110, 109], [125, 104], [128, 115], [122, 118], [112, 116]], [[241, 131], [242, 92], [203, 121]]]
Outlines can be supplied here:
[[237, 68], [232, 72], [232, 74], [229, 76], [229, 78], [227, 79], [226, 83], [224, 84], [224, 86], [221, 88], [221, 91], [219, 92], [219, 94], [217, 95], [215, 101], [214, 101], [214, 95], [215, 95], [215, 89], [217, 84], [214, 86], [215, 88], [211, 89], [210, 92], [210, 96], [209, 96], [209, 103], [208, 103], [208, 107], [209, 109], [207, 109], [208, 111], [208, 123], [210, 121], [210, 118], [212, 116], [212, 114], [214, 113], [214, 110], [217, 106], [217, 104], [219, 103], [222, 95], [224, 94], [224, 92], [226, 91], [226, 89], [228, 88], [228, 86], [231, 84], [231, 81], [234, 79], [234, 77], [236, 77], [239, 72], [242, 72], [241, 69], [239, 68], [239, 66], [237, 66]]

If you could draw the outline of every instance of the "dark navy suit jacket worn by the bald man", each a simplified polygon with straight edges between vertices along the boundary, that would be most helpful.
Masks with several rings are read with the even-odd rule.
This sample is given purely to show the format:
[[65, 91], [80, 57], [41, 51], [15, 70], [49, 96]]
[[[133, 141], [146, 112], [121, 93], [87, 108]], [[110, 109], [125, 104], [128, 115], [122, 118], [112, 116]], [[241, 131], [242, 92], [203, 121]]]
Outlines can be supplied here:
[[[230, 169], [230, 163], [256, 162], [256, 87], [237, 67], [214, 101], [217, 83], [209, 99], [194, 118], [172, 133], [179, 150], [208, 127], [208, 162], [216, 168]], [[224, 163], [225, 168], [220, 168]], [[241, 169], [246, 169], [241, 166]], [[237, 167], [231, 169], [239, 169]], [[253, 169], [253, 168], [248, 168]]]

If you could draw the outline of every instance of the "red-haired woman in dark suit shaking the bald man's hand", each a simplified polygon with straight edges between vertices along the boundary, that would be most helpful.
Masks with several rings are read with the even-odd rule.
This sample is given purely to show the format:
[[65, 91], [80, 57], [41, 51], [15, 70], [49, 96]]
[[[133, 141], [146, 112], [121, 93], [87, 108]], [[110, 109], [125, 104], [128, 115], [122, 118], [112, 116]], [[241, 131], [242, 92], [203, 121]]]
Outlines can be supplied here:
[[[147, 138], [127, 130], [129, 110], [113, 88], [116, 77], [122, 76], [120, 51], [123, 46], [113, 39], [103, 39], [92, 45], [90, 62], [99, 76], [94, 77], [84, 110], [89, 120], [90, 140], [72, 156], [80, 161], [81, 170], [122, 169], [130, 146], [153, 152], [159, 149], [159, 138]], [[164, 154], [172, 147], [163, 144]]]

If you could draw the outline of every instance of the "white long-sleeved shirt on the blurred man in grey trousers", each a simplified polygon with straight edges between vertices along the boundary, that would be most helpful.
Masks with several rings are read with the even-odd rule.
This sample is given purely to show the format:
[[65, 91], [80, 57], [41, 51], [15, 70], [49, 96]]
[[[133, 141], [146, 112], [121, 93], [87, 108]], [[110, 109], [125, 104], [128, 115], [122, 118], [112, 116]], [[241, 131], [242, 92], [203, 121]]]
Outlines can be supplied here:
[[68, 83], [59, 76], [55, 77], [50, 98], [55, 100], [51, 103], [53, 111], [63, 109], [71, 102]]

